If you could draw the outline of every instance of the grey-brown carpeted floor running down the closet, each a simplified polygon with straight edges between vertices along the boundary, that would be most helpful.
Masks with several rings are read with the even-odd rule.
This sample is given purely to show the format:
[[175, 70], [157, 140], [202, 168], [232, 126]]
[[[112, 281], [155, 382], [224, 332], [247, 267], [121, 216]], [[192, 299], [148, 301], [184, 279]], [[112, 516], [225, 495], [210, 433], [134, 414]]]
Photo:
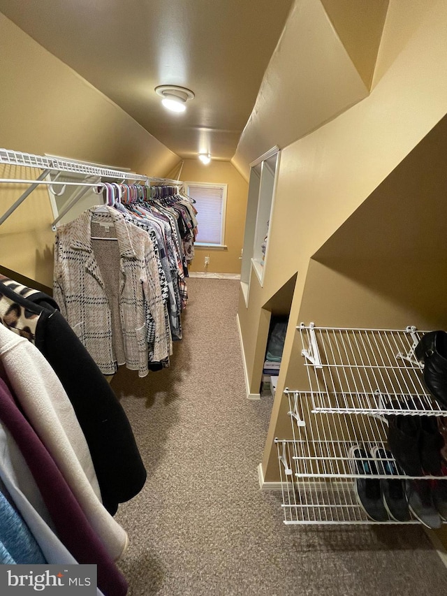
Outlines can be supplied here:
[[246, 398], [239, 282], [189, 279], [169, 369], [112, 381], [148, 472], [119, 507], [129, 596], [438, 596], [447, 569], [417, 525], [286, 526], [261, 492], [272, 398]]

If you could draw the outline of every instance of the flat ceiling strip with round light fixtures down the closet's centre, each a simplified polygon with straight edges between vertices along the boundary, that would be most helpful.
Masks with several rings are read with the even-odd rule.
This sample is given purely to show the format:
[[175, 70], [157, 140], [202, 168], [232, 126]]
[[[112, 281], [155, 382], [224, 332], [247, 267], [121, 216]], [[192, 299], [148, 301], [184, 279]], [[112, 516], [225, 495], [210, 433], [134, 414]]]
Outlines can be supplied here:
[[[179, 157], [229, 160], [292, 4], [0, 0], [0, 10]], [[196, 97], [176, 115], [161, 106], [157, 85]]]

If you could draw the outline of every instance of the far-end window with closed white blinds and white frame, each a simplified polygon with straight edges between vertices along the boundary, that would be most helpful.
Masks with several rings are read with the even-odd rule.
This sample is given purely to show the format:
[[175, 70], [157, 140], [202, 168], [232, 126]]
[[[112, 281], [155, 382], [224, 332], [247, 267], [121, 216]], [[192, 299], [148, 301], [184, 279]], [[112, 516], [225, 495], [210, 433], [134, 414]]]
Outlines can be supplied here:
[[186, 182], [186, 194], [196, 201], [197, 246], [212, 248], [225, 245], [225, 211], [227, 184]]

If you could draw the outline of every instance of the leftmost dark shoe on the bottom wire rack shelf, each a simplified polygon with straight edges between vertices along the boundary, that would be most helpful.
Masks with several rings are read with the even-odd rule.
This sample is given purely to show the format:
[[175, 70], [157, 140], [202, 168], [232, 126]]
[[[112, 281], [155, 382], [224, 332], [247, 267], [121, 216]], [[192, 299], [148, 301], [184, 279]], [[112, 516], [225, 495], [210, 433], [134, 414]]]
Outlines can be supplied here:
[[372, 456], [360, 445], [351, 446], [348, 456], [353, 474], [371, 477], [355, 479], [354, 488], [358, 504], [372, 521], [388, 521], [389, 517], [381, 495], [380, 481], [374, 479], [374, 474], [377, 472]]

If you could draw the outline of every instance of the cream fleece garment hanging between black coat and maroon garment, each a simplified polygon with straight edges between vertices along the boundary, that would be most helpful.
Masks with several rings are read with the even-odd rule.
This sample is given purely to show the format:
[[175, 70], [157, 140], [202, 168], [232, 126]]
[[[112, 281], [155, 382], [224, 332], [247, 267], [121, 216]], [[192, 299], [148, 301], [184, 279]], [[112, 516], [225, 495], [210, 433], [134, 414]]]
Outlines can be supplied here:
[[101, 504], [94, 465], [73, 406], [38, 349], [0, 325], [0, 361], [24, 414], [57, 463], [113, 559], [124, 552], [124, 529]]

